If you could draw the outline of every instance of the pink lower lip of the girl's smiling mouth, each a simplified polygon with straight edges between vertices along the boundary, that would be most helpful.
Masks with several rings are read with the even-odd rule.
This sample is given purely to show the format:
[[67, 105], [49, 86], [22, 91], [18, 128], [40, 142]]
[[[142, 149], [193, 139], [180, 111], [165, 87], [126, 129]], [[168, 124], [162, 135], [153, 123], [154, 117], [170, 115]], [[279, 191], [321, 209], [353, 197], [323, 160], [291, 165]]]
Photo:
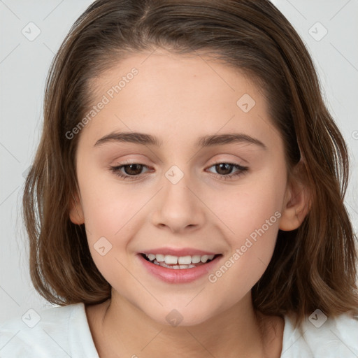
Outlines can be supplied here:
[[215, 257], [208, 264], [203, 264], [193, 268], [166, 268], [147, 261], [142, 255], [138, 255], [144, 267], [155, 277], [169, 283], [188, 283], [198, 280], [203, 275], [213, 270], [214, 266], [220, 261], [221, 255]]

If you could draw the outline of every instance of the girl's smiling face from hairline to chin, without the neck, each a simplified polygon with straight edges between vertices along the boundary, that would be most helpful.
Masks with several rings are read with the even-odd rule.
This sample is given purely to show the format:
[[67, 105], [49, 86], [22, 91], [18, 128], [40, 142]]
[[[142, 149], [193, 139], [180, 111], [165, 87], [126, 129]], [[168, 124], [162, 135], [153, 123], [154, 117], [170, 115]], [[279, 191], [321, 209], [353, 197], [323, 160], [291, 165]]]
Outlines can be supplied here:
[[113, 299], [157, 322], [180, 313], [199, 324], [248, 297], [270, 262], [287, 203], [284, 148], [249, 78], [203, 56], [148, 55], [92, 83], [94, 108], [73, 131], [71, 220], [85, 222]]

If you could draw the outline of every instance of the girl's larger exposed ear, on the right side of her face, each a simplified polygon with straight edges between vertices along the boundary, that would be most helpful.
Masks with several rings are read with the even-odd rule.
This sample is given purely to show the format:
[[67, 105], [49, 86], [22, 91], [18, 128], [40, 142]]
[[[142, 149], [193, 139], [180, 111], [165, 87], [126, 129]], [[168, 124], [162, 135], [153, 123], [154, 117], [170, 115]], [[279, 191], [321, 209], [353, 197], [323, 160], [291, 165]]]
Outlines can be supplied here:
[[297, 229], [310, 210], [310, 191], [308, 186], [304, 184], [306, 180], [302, 180], [302, 173], [306, 173], [306, 171], [299, 163], [287, 184], [281, 211], [280, 230]]

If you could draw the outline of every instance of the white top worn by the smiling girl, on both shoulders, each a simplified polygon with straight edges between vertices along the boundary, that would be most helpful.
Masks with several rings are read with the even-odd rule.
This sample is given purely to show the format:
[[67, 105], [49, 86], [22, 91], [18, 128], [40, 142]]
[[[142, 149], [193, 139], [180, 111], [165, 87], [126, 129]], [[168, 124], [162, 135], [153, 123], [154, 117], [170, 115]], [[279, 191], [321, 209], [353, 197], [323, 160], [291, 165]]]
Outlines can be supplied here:
[[[282, 358], [357, 358], [358, 318], [329, 317], [316, 310], [299, 328], [285, 316]], [[0, 358], [99, 358], [85, 306], [48, 308], [0, 324]]]

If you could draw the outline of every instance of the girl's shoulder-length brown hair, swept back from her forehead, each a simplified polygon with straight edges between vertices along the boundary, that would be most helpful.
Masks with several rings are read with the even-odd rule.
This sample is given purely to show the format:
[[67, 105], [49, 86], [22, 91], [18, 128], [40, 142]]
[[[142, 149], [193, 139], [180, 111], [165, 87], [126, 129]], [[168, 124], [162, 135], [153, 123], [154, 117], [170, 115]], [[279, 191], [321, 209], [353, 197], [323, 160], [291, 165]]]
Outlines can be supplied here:
[[24, 187], [36, 290], [60, 306], [110, 299], [85, 224], [69, 219], [80, 134], [69, 140], [66, 133], [93, 101], [93, 79], [124, 57], [156, 48], [206, 53], [252, 78], [284, 141], [287, 175], [310, 192], [302, 224], [278, 231], [271, 262], [252, 287], [255, 311], [293, 312], [296, 324], [317, 308], [326, 315], [357, 312], [357, 236], [343, 203], [348, 149], [308, 50], [268, 0], [97, 0], [80, 15], [50, 67], [43, 132]]

